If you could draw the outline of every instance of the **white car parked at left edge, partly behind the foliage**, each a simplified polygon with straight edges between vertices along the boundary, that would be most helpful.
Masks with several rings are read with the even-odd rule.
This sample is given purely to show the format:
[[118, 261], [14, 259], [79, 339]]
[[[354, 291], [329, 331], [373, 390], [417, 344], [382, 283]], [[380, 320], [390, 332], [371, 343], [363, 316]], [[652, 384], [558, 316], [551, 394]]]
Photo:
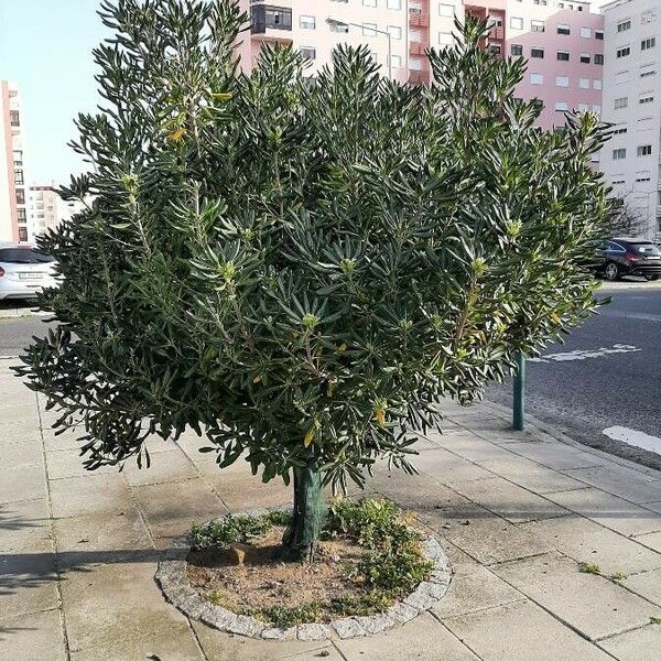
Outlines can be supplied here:
[[53, 257], [33, 246], [0, 242], [0, 301], [34, 299], [43, 289], [58, 285]]

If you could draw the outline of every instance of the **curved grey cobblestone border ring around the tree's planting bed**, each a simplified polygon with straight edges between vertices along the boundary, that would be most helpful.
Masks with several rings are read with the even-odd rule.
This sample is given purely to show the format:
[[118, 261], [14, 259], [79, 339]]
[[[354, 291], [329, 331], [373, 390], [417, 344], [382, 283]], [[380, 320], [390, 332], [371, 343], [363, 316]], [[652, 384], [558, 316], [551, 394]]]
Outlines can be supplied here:
[[434, 563], [434, 568], [430, 579], [422, 582], [402, 602], [397, 602], [388, 610], [373, 616], [351, 616], [327, 625], [297, 625], [282, 629], [268, 627], [253, 617], [236, 615], [201, 597], [197, 590], [191, 587], [186, 572], [186, 556], [189, 550], [191, 539], [186, 535], [178, 540], [175, 548], [159, 563], [155, 579], [167, 602], [188, 617], [202, 620], [220, 631], [263, 640], [330, 640], [373, 636], [397, 625], [403, 625], [432, 608], [445, 595], [452, 579], [445, 552], [434, 537], [427, 537], [422, 542], [422, 552]]

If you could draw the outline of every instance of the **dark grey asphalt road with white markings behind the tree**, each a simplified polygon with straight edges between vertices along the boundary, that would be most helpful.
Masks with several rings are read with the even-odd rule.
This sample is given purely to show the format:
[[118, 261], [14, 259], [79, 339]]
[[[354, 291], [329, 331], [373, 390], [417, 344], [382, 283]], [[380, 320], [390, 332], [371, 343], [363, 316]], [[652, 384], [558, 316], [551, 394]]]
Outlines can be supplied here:
[[[614, 301], [600, 315], [528, 364], [527, 411], [581, 443], [661, 469], [661, 283], [620, 282], [603, 293]], [[46, 328], [40, 317], [0, 318], [0, 356], [18, 356]], [[487, 389], [501, 404], [511, 397], [511, 383]], [[660, 447], [610, 438], [611, 427], [659, 438]]]

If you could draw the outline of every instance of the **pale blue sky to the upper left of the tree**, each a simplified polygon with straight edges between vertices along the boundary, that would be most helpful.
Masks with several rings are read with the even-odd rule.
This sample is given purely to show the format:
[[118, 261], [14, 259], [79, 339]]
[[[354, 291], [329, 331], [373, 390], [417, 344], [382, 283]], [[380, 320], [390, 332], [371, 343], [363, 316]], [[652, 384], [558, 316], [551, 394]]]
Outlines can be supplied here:
[[66, 143], [76, 137], [76, 115], [99, 101], [91, 59], [104, 37], [97, 7], [98, 0], [0, 0], [0, 79], [21, 91], [31, 184], [64, 184], [85, 169]]

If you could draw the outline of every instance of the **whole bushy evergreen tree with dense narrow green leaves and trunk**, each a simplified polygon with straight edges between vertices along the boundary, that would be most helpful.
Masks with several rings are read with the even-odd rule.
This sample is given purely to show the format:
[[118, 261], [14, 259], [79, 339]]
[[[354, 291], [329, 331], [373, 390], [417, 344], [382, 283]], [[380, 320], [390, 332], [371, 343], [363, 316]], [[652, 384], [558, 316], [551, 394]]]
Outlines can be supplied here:
[[220, 468], [293, 477], [283, 549], [311, 556], [323, 485], [362, 485], [379, 457], [413, 470], [441, 398], [479, 397], [589, 316], [606, 129], [535, 128], [525, 63], [469, 20], [427, 87], [367, 47], [311, 77], [266, 46], [239, 74], [247, 17], [227, 0], [100, 15], [106, 104], [78, 117], [90, 169], [62, 191], [94, 202], [40, 241], [64, 281], [18, 371], [80, 430], [88, 469], [192, 427]]

